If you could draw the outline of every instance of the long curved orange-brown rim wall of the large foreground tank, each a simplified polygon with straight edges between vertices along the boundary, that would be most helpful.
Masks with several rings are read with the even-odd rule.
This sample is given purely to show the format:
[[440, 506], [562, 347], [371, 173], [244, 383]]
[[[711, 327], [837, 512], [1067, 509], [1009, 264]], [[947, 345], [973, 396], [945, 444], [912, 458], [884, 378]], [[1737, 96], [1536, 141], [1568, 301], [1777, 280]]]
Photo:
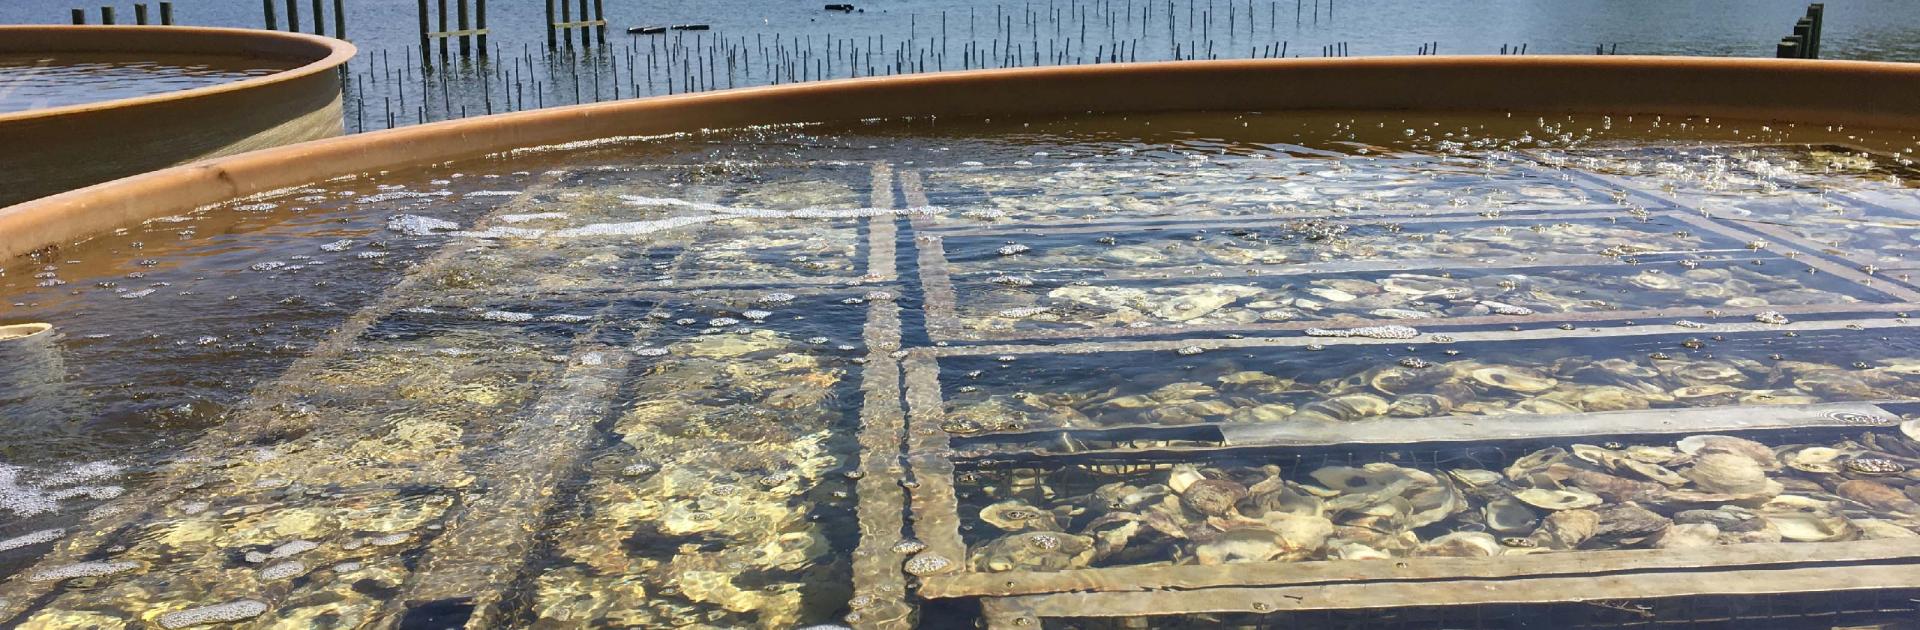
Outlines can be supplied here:
[[474, 117], [305, 142], [0, 209], [0, 259], [328, 177], [570, 140], [893, 115], [1482, 109], [1920, 129], [1920, 63], [1705, 58], [1171, 61], [847, 79]]

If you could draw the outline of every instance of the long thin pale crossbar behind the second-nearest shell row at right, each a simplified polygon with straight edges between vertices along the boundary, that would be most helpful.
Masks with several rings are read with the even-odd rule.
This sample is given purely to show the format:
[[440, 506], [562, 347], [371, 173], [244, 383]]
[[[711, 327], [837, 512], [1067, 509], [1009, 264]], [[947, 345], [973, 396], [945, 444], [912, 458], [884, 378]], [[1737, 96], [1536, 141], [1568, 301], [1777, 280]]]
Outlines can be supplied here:
[[[1907, 309], [1912, 303], [1870, 303], [1862, 313], [1882, 309]], [[1722, 311], [1730, 313], [1730, 311]], [[1784, 311], [1782, 311], [1784, 313]], [[1622, 313], [1613, 313], [1622, 315]], [[1667, 317], [1680, 317], [1668, 313]], [[1407, 321], [1400, 321], [1407, 325]], [[1417, 321], [1415, 321], [1417, 323]], [[1227, 348], [1304, 348], [1304, 346], [1411, 346], [1411, 344], [1452, 344], [1452, 342], [1524, 342], [1524, 340], [1563, 340], [1563, 338], [1613, 338], [1613, 336], [1651, 336], [1651, 334], [1736, 334], [1736, 332], [1809, 332], [1843, 328], [1910, 328], [1903, 317], [1887, 313], [1884, 319], [1820, 319], [1795, 321], [1789, 325], [1763, 325], [1755, 321], [1740, 323], [1695, 323], [1680, 325], [1617, 325], [1596, 328], [1528, 328], [1528, 330], [1463, 330], [1446, 334], [1419, 334], [1415, 338], [1365, 338], [1365, 336], [1258, 336], [1258, 338], [1204, 338], [1204, 340], [1133, 340], [1133, 342], [1085, 342], [1085, 344], [1002, 344], [1002, 346], [945, 346], [922, 351], [935, 357], [977, 357], [977, 355], [1044, 355], [1044, 353], [1102, 353], [1102, 351], [1175, 351], [1183, 348], [1227, 350]]]

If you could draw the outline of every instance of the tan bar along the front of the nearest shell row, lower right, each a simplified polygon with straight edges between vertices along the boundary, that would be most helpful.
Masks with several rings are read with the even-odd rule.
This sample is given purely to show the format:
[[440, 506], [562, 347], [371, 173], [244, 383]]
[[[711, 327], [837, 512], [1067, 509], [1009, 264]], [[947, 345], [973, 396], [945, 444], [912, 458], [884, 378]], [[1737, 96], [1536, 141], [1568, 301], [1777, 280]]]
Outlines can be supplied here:
[[[1884, 538], [1851, 542], [1741, 544], [1688, 549], [1563, 551], [1511, 557], [1402, 557], [1392, 561], [1144, 565], [1075, 569], [1060, 572], [968, 572], [924, 578], [920, 594], [924, 597], [1004, 597], [1069, 592], [1148, 595], [1158, 590], [1185, 592], [1227, 586], [1317, 584], [1325, 588], [1334, 584], [1365, 586], [1404, 580], [1501, 580], [1536, 576], [1592, 578], [1609, 572], [1693, 572], [1701, 569], [1726, 570], [1768, 565], [1841, 565], [1885, 561], [1914, 563], [1914, 567], [1920, 569], [1920, 545], [1907, 538]], [[1565, 597], [1565, 594], [1542, 595]]]

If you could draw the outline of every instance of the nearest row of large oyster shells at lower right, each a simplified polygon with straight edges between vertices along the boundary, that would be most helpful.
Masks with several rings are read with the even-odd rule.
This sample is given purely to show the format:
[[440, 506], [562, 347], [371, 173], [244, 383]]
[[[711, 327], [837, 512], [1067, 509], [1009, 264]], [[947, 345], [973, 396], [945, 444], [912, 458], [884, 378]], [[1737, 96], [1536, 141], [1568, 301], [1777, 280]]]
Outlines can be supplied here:
[[[1085, 496], [983, 486], [973, 570], [1494, 557], [1920, 538], [1920, 421], [1855, 440], [1546, 448], [1503, 471], [1194, 467]], [[1302, 474], [1304, 472], [1304, 474]], [[1916, 540], [1920, 544], [1920, 540]]]

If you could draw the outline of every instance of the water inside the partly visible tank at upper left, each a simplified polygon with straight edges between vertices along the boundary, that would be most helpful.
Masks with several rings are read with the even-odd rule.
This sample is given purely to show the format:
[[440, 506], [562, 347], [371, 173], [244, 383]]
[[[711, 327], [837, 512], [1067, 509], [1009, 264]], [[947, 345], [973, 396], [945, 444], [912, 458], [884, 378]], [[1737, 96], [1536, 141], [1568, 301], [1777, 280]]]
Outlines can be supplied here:
[[292, 63], [219, 56], [0, 56], [0, 111], [190, 90], [263, 77]]

